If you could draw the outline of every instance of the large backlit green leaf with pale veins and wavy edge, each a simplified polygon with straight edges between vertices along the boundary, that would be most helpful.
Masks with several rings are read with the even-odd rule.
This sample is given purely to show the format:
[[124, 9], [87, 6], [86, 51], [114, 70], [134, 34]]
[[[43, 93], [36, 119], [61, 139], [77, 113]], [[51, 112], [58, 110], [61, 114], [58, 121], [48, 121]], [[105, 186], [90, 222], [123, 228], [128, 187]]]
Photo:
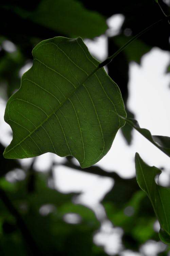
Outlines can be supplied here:
[[33, 57], [33, 67], [6, 105], [4, 119], [13, 130], [13, 140], [4, 157], [52, 152], [74, 156], [82, 168], [93, 165], [125, 124], [117, 84], [98, 68], [81, 38], [42, 41]]

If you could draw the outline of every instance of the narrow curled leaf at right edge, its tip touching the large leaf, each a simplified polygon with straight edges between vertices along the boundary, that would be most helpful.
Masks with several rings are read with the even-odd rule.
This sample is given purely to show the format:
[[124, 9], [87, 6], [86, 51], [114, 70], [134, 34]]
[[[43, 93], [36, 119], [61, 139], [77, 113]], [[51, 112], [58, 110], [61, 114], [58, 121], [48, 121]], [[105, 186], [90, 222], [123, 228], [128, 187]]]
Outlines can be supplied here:
[[170, 137], [152, 135], [149, 130], [145, 128], [140, 128], [138, 122], [133, 118], [126, 118], [126, 123], [134, 127], [138, 132], [140, 132], [146, 139], [148, 139], [152, 144], [163, 151], [167, 156], [170, 157]]

